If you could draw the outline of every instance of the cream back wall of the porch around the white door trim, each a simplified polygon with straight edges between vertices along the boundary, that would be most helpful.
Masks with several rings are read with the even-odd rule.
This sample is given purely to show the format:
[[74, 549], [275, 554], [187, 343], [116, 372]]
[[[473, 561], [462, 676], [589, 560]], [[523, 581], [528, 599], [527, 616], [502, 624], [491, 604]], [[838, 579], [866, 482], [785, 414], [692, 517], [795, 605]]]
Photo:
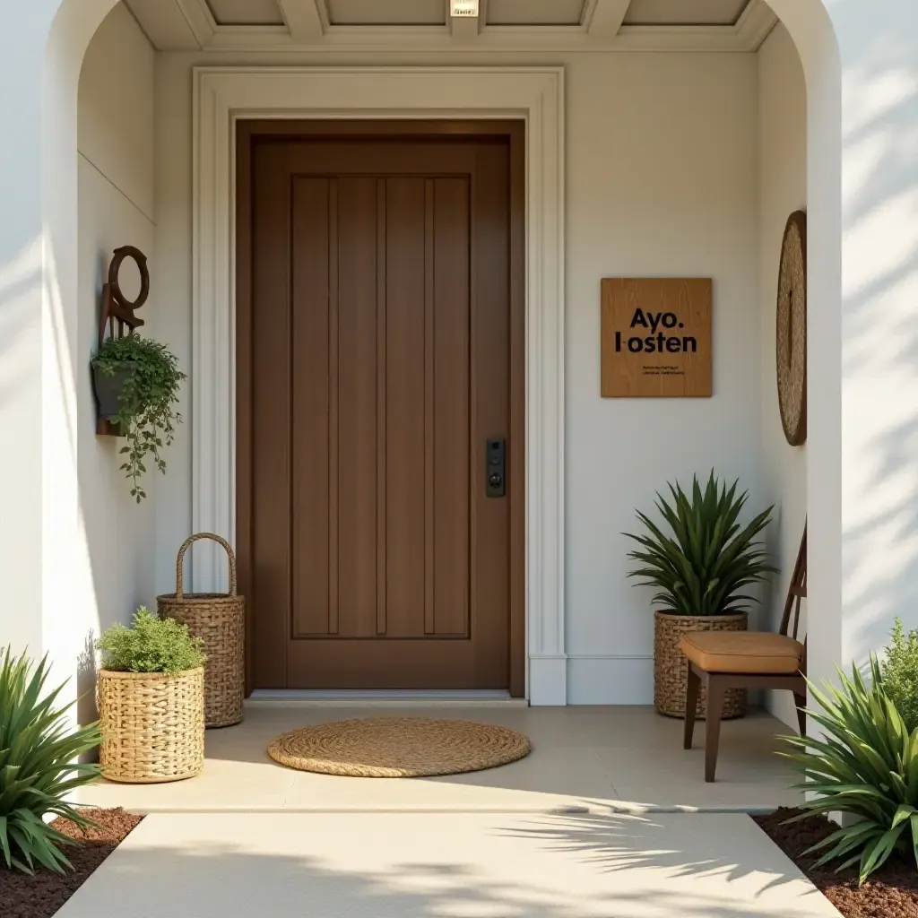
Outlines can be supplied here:
[[[455, 63], [493, 62], [483, 54]], [[252, 56], [163, 54], [157, 63], [157, 330], [190, 357], [193, 63]], [[259, 57], [258, 62], [271, 62]], [[279, 63], [301, 62], [285, 55]], [[321, 63], [393, 62], [363, 58]], [[442, 62], [399, 55], [398, 63]], [[574, 54], [567, 79], [567, 650], [573, 703], [652, 697], [652, 616], [625, 580], [623, 530], [657, 488], [715, 467], [761, 506], [756, 58]], [[617, 274], [714, 278], [711, 400], [599, 397], [599, 281]], [[190, 419], [189, 419], [190, 420]], [[190, 442], [157, 491], [157, 586], [189, 532]]]

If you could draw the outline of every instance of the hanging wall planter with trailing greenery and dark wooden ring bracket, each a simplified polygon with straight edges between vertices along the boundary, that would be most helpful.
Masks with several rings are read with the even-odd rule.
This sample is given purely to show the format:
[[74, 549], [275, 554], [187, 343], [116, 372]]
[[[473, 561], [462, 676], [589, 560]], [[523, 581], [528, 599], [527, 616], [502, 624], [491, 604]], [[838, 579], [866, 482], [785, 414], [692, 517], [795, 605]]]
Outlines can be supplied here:
[[[132, 258], [140, 270], [140, 296], [133, 303], [118, 286], [118, 271], [126, 258]], [[102, 288], [99, 348], [91, 362], [98, 410], [96, 432], [127, 439], [121, 449], [126, 457], [121, 469], [130, 481], [131, 497], [138, 503], [147, 496], [140, 485], [146, 464], [152, 462], [165, 472], [160, 451], [173, 442], [175, 425], [182, 420], [174, 406], [185, 379], [177, 359], [164, 344], [137, 333], [143, 320], [134, 310], [143, 306], [149, 294], [146, 256], [132, 246], [116, 249]]]

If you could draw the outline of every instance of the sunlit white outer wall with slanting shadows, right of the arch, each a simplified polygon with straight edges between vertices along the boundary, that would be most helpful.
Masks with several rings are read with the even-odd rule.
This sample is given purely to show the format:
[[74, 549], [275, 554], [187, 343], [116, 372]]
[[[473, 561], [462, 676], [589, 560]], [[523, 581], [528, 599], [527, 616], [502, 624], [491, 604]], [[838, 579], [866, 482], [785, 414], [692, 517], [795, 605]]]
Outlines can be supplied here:
[[887, 643], [897, 614], [918, 625], [918, 14], [904, 12], [906, 24], [886, 9], [879, 36], [870, 4], [833, 10], [853, 42], [843, 80], [863, 87], [846, 100], [844, 155], [871, 163], [847, 174], [843, 190], [846, 245], [871, 269], [846, 268], [843, 292], [843, 378], [864, 393], [856, 418], [845, 419], [860, 430], [843, 435], [847, 443], [869, 434], [844, 486], [857, 505], [843, 532], [855, 613], [844, 652], [858, 662]]

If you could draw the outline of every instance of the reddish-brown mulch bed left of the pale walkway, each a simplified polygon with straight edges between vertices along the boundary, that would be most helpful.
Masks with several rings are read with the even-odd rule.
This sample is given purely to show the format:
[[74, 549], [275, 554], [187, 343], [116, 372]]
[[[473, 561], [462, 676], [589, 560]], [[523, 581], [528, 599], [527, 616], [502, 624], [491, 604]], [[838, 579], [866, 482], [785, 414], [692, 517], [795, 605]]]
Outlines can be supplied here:
[[73, 864], [64, 876], [41, 869], [34, 877], [0, 868], [0, 915], [3, 918], [51, 918], [90, 875], [137, 827], [142, 816], [124, 810], [84, 810], [98, 828], [77, 828], [69, 819], [57, 819], [54, 828], [84, 841], [68, 846], [64, 854]]

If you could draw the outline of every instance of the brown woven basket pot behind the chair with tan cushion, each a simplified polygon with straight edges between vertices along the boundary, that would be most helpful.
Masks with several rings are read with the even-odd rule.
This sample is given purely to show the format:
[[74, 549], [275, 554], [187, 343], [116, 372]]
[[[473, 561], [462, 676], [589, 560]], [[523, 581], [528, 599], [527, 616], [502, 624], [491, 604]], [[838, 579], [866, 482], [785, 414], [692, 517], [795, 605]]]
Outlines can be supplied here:
[[[654, 705], [666, 717], [686, 716], [686, 693], [689, 661], [679, 650], [679, 638], [693, 631], [746, 631], [749, 616], [740, 615], [673, 615], [655, 612], [654, 626]], [[696, 716], [703, 720], [708, 711], [708, 694], [701, 685]], [[727, 689], [723, 700], [725, 721], [743, 717], [746, 690]]]

